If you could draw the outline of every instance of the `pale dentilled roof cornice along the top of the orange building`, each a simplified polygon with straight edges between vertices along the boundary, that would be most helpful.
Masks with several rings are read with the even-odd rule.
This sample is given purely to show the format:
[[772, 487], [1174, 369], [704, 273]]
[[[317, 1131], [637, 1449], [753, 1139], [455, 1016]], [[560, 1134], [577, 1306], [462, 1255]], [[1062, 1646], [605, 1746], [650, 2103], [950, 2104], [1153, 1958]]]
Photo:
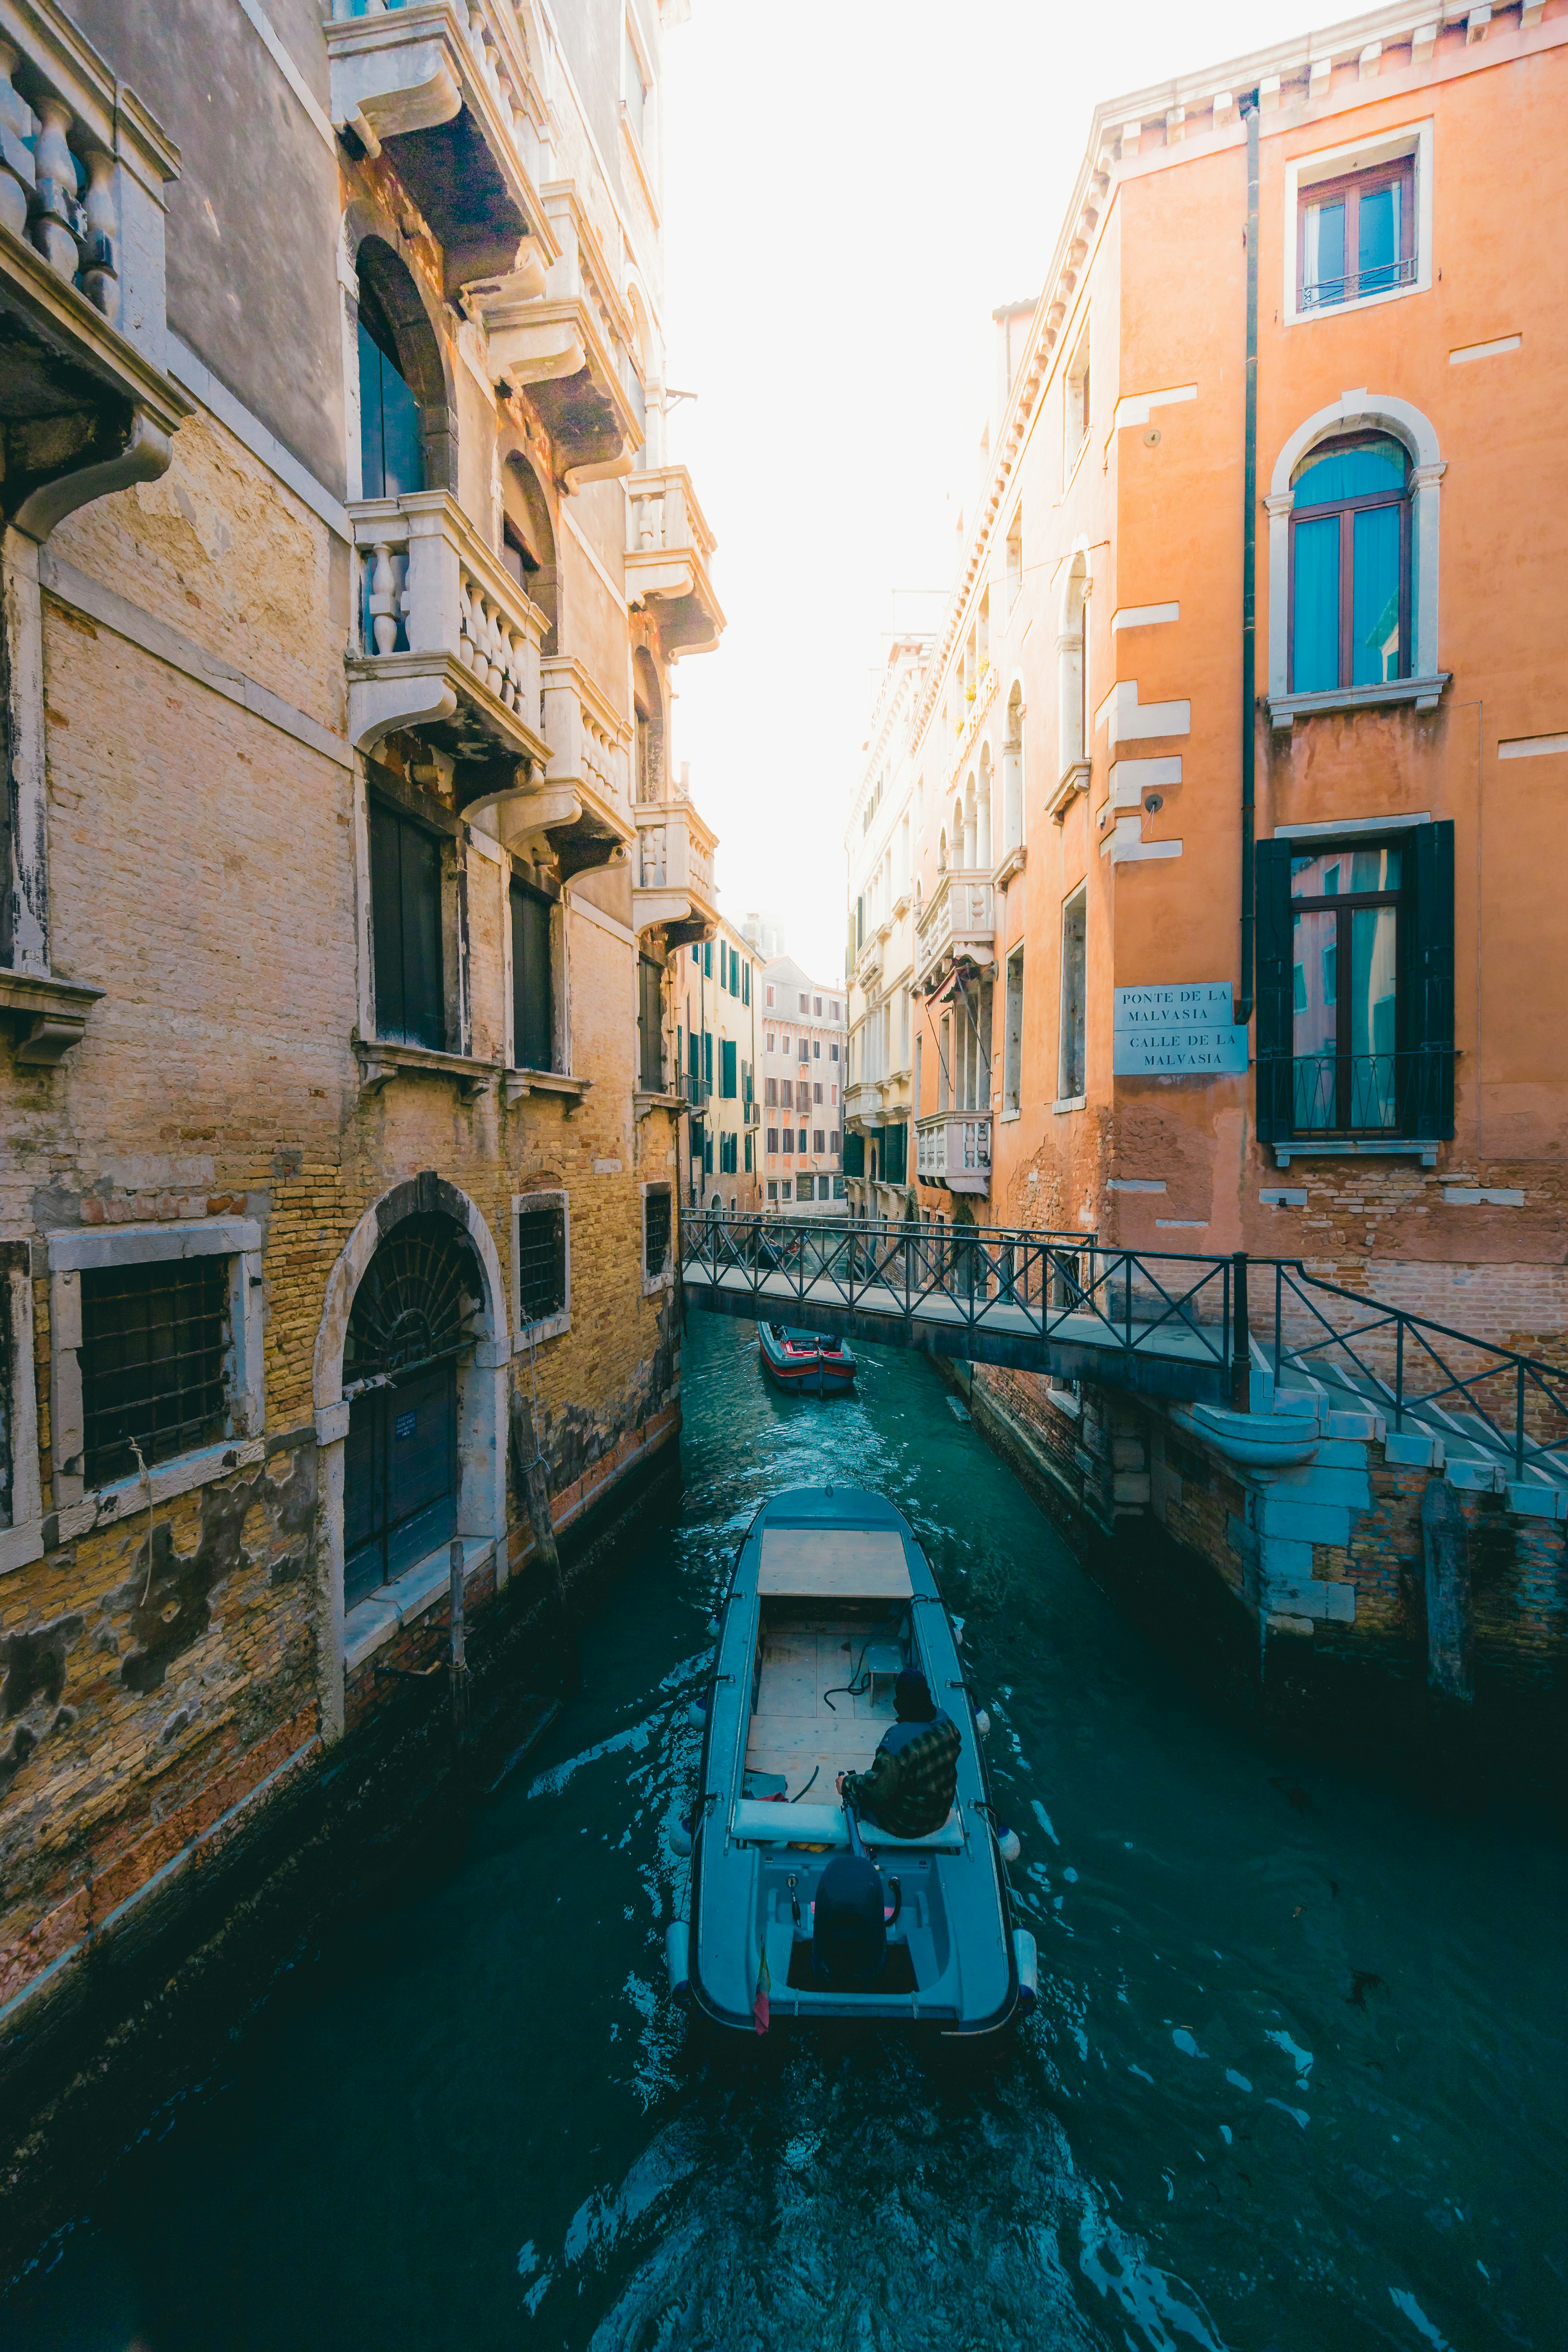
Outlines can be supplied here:
[[[1514, 31], [1533, 31], [1542, 21], [1544, 0], [1427, 0], [1425, 7], [1401, 0], [1396, 7], [1371, 9], [1363, 16], [1347, 16], [1342, 24], [1300, 33], [1293, 40], [1272, 42], [1220, 66], [1204, 66], [1197, 73], [1175, 75], [1147, 89], [1117, 99], [1103, 99], [1088, 118], [1088, 143], [1072, 183], [1072, 198], [1063, 214], [1063, 228], [1051, 254], [1034, 320], [1030, 327], [1025, 358], [1018, 362], [1009, 402], [997, 428], [990, 470], [985, 475], [976, 520], [964, 541], [954, 586], [943, 609], [943, 623], [931, 640], [924, 694], [914, 713], [914, 741], [924, 741], [931, 727], [938, 687], [947, 675], [952, 647], [969, 619], [969, 604], [980, 586], [985, 557], [992, 543], [997, 513], [1009, 503], [1013, 470], [1030, 437], [1039, 395], [1058, 360], [1063, 329], [1070, 325], [1081, 299], [1084, 278], [1093, 252], [1110, 221], [1110, 209], [1124, 176], [1124, 165], [1138, 160], [1145, 129], [1164, 132], [1166, 146], [1199, 141], [1234, 143], [1241, 139], [1239, 99], [1260, 94], [1262, 129], [1286, 129], [1286, 111], [1307, 99], [1321, 99], [1324, 115], [1345, 111], [1345, 94], [1331, 89], [1335, 66], [1356, 66], [1361, 80], [1373, 80], [1389, 49], [1408, 47], [1406, 66], [1418, 71], [1429, 64], [1443, 33], [1462, 33], [1472, 47], [1497, 26], [1512, 19]], [[1476, 71], [1495, 61], [1495, 49], [1474, 61]], [[1316, 71], [1314, 71], [1316, 68]], [[1321, 87], [1314, 89], [1314, 82]], [[1300, 87], [1298, 87], [1300, 85]], [[1286, 96], [1288, 92], [1288, 96]], [[1363, 99], [1378, 96], [1375, 87]], [[1204, 125], [1204, 115], [1208, 122]], [[1291, 122], [1300, 115], [1291, 113]], [[1124, 153], [1131, 151], [1131, 153]], [[1145, 158], [1145, 165], [1154, 158]], [[1004, 306], [1013, 310], [1013, 306]]]

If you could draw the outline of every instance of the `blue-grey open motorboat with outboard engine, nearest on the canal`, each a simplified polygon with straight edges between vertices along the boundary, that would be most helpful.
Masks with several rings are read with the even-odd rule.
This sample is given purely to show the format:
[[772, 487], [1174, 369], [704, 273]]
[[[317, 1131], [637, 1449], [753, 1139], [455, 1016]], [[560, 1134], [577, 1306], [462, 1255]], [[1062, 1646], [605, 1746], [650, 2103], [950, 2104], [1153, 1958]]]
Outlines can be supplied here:
[[[839, 1771], [872, 1764], [910, 1665], [959, 1731], [957, 1797], [926, 1837], [893, 1837], [837, 1792]], [[762, 1505], [703, 1717], [677, 1835], [691, 1917], [665, 1936], [677, 1999], [738, 2032], [783, 2016], [985, 2034], [1032, 2006], [1034, 1938], [1013, 1929], [1004, 1867], [1018, 1842], [990, 1804], [954, 1625], [889, 1501], [813, 1486]]]

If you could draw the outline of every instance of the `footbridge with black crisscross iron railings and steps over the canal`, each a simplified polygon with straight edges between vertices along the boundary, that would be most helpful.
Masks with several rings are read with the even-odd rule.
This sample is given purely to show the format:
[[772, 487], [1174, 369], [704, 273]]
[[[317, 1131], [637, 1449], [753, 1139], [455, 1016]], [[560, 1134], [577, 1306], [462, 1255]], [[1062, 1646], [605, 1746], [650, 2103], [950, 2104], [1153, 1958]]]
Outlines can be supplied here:
[[[682, 1218], [689, 1308], [1150, 1397], [1380, 1416], [1568, 1484], [1568, 1371], [1309, 1275], [1300, 1258], [1112, 1249], [1093, 1232]], [[1246, 1456], [1239, 1456], [1246, 1458]]]

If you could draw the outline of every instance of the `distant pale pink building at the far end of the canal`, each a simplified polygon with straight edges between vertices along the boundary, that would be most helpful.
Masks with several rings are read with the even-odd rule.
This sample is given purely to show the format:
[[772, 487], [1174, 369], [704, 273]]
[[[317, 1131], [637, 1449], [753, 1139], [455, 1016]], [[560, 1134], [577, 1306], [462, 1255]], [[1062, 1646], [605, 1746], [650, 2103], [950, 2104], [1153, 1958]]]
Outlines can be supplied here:
[[764, 1209], [844, 1216], [844, 985], [762, 967]]

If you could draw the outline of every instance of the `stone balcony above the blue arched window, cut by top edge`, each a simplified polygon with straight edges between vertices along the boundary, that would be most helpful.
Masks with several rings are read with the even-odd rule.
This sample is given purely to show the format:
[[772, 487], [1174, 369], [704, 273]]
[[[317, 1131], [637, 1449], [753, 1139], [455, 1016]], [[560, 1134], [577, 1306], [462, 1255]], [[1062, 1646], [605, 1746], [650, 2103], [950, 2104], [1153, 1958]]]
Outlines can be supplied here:
[[543, 99], [503, 0], [334, 0], [334, 127], [386, 151], [442, 247], [447, 301], [484, 278], [541, 294], [559, 242], [531, 167]]

